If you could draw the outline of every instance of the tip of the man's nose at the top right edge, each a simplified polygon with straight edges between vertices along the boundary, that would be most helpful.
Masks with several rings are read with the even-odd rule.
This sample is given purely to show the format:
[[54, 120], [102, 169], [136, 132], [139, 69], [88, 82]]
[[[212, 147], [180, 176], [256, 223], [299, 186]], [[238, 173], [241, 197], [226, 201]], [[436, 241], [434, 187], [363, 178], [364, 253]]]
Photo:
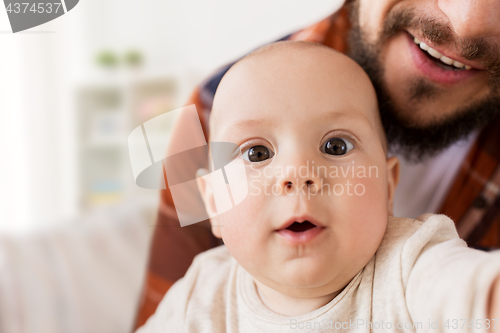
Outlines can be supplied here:
[[438, 6], [459, 37], [500, 37], [499, 0], [438, 0]]

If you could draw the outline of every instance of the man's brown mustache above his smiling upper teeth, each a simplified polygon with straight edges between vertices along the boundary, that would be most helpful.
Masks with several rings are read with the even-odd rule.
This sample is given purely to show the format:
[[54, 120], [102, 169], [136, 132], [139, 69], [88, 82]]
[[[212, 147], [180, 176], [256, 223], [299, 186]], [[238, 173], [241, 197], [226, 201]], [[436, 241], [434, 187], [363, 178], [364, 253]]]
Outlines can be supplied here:
[[449, 23], [425, 17], [414, 9], [390, 12], [384, 22], [379, 40], [386, 41], [396, 33], [408, 28], [420, 31], [421, 37], [434, 45], [454, 44], [458, 54], [467, 60], [478, 61], [491, 73], [491, 81], [500, 87], [500, 45], [488, 38], [458, 37]]

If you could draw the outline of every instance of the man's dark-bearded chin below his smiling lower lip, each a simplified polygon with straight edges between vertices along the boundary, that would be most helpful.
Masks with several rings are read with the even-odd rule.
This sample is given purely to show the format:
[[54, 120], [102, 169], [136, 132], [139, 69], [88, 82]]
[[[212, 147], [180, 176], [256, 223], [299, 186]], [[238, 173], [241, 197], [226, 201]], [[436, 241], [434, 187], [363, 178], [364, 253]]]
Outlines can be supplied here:
[[392, 98], [380, 76], [371, 78], [390, 151], [410, 162], [436, 156], [500, 115], [498, 93], [489, 92], [468, 104], [455, 105], [457, 103], [446, 100], [444, 92], [435, 85], [426, 80], [412, 80], [410, 86], [414, 89], [407, 89], [410, 95], [401, 102]]

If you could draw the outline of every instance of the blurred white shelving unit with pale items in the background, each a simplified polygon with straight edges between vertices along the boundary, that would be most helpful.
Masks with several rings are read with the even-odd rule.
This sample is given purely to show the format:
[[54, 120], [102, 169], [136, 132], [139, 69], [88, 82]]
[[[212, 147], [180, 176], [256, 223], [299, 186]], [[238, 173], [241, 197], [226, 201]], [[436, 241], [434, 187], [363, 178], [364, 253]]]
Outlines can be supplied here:
[[82, 210], [131, 195], [157, 202], [158, 191], [135, 185], [127, 138], [143, 122], [178, 107], [178, 80], [157, 76], [87, 82], [77, 90], [76, 103]]

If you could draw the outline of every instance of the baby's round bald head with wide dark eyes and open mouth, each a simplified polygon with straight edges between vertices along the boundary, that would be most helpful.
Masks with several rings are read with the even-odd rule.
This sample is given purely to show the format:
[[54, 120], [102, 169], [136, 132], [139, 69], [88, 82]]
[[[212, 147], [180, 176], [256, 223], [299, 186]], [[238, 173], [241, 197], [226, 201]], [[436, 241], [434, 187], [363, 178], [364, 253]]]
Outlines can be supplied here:
[[[313, 43], [259, 49], [220, 82], [210, 141], [240, 147], [249, 185], [212, 231], [259, 286], [333, 298], [374, 255], [398, 162], [387, 159], [375, 91], [354, 61]], [[209, 215], [212, 185], [199, 181]]]

